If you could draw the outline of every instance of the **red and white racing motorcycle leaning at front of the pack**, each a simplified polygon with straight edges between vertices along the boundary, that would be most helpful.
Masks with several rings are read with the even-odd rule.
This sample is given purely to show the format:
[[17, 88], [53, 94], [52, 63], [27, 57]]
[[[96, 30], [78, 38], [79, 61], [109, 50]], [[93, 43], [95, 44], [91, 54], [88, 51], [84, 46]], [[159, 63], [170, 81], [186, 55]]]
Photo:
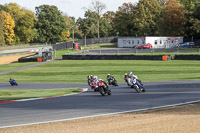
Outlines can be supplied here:
[[97, 84], [91, 82], [90, 87], [94, 89], [94, 91], [100, 92], [102, 96], [105, 96], [106, 94], [111, 95], [111, 89], [109, 86], [102, 80], [98, 80]]

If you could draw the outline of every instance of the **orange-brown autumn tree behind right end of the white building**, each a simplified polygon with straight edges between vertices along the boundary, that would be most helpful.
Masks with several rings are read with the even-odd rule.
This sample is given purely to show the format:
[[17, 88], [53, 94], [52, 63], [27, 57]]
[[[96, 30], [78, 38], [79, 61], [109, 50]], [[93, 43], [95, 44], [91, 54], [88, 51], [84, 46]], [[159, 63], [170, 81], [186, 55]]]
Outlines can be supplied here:
[[184, 35], [184, 12], [176, 0], [167, 0], [163, 16], [163, 28], [168, 36]]

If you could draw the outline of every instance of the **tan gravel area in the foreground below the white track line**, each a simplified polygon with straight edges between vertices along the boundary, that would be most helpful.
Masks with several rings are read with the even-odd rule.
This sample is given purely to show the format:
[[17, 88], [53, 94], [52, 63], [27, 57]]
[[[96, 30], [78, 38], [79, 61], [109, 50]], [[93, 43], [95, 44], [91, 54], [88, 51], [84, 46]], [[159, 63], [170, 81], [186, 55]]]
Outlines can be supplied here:
[[200, 104], [0, 129], [0, 133], [199, 133]]

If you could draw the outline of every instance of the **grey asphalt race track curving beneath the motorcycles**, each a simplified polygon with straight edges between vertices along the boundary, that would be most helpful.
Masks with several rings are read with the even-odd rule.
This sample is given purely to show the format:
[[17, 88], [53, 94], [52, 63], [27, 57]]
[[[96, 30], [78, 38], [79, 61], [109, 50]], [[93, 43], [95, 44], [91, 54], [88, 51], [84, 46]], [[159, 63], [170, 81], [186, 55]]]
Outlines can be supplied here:
[[[134, 112], [200, 100], [200, 81], [144, 82], [147, 92], [138, 94], [125, 83], [111, 87], [111, 96], [87, 92], [56, 98], [0, 104], [0, 128], [49, 121], [62, 121], [116, 112]], [[87, 84], [19, 83], [5, 89], [50, 89], [88, 87]]]

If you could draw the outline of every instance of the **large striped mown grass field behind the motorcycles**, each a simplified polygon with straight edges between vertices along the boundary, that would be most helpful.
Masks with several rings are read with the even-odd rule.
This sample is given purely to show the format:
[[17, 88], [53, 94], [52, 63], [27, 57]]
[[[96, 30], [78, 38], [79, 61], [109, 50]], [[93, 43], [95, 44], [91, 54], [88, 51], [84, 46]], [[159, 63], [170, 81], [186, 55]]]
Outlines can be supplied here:
[[200, 80], [200, 61], [61, 60], [0, 76], [17, 82], [86, 83], [87, 75], [106, 80], [108, 73], [124, 82], [132, 71], [142, 81]]

